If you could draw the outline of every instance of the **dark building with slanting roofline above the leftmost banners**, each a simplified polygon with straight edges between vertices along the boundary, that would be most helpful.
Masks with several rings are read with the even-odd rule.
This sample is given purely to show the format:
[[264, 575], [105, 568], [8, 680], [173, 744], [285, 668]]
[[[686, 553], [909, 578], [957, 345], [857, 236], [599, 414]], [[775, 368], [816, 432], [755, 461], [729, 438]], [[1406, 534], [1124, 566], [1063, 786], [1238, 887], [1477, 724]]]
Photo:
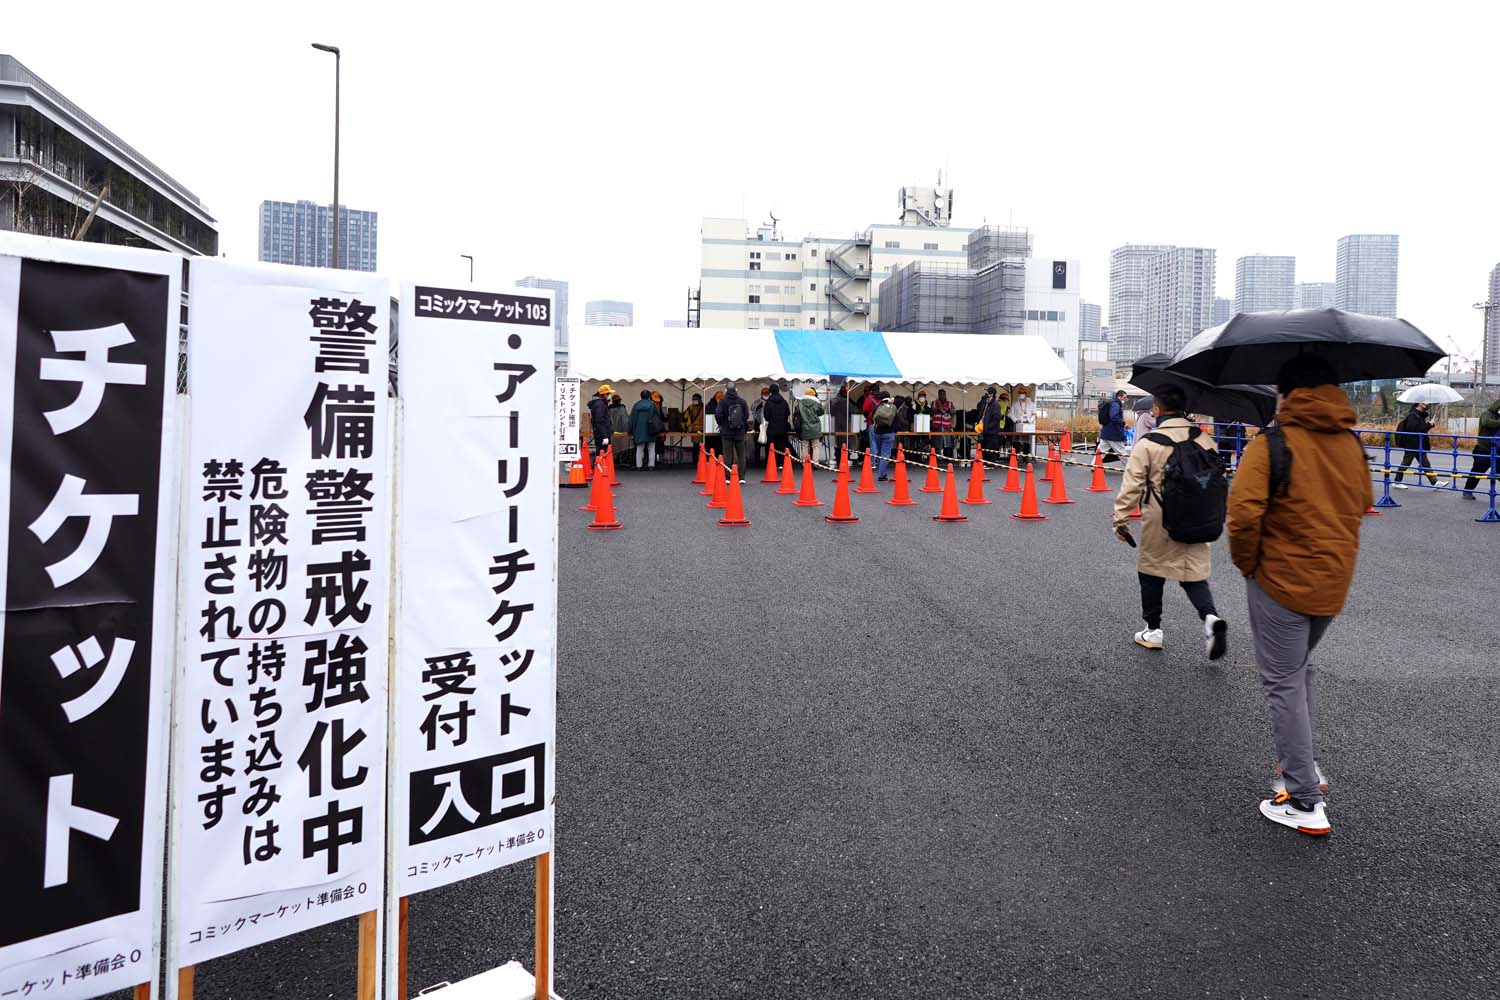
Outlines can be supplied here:
[[0, 55], [0, 229], [214, 256], [198, 198], [16, 58]]

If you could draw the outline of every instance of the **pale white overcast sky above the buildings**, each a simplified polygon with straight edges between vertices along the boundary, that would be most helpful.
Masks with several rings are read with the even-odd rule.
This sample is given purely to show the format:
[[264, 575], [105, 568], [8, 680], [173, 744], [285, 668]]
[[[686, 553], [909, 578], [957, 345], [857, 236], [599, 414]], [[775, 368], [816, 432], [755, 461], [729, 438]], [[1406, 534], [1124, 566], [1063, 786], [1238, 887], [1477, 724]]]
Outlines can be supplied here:
[[[1400, 312], [1476, 351], [1500, 261], [1490, 3], [14, 3], [9, 51], [194, 190], [254, 259], [261, 199], [380, 211], [381, 271], [524, 274], [681, 318], [702, 216], [789, 237], [1030, 226], [1106, 303], [1108, 250], [1288, 253], [1401, 235]], [[66, 24], [62, 13], [66, 10]]]

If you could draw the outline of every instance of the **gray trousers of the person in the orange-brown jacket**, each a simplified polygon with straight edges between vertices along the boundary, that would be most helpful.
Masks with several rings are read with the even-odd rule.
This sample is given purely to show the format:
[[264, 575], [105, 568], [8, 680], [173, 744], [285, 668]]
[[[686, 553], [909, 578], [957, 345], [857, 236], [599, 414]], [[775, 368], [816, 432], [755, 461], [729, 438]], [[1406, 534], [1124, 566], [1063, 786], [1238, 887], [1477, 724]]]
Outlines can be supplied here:
[[1276, 604], [1260, 585], [1245, 580], [1256, 666], [1270, 709], [1276, 762], [1292, 798], [1308, 805], [1323, 801], [1312, 754], [1312, 669], [1308, 658], [1334, 619], [1300, 615]]

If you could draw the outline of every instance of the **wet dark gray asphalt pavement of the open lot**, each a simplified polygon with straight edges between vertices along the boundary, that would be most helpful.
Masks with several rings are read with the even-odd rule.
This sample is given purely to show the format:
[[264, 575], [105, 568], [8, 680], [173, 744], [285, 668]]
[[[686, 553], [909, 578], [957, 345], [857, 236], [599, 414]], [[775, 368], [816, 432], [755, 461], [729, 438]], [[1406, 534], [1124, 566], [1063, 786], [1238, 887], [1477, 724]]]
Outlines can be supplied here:
[[[1134, 646], [1134, 553], [1086, 469], [1046, 522], [996, 478], [962, 525], [890, 484], [830, 525], [753, 475], [750, 528], [690, 472], [621, 475], [624, 531], [585, 531], [580, 493], [561, 519], [567, 1000], [1500, 996], [1482, 504], [1366, 519], [1316, 654], [1314, 840], [1257, 811], [1270, 732], [1224, 543], [1228, 655], [1176, 588], [1166, 651]], [[530, 967], [530, 865], [417, 897], [412, 991]], [[206, 964], [198, 996], [345, 997], [352, 961], [334, 925]]]

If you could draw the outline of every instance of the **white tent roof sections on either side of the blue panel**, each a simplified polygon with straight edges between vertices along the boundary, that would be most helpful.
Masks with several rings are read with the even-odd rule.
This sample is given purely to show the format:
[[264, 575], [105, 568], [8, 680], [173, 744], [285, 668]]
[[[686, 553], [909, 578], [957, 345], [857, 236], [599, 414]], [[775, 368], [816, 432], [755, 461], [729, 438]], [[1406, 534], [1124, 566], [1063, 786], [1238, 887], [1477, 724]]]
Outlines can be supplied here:
[[[906, 384], [1072, 382], [1072, 372], [1042, 337], [975, 333], [884, 333]], [[774, 330], [576, 327], [568, 367], [576, 378], [616, 382], [687, 379], [826, 378], [830, 372], [788, 372]], [[858, 376], [855, 376], [858, 378]]]

